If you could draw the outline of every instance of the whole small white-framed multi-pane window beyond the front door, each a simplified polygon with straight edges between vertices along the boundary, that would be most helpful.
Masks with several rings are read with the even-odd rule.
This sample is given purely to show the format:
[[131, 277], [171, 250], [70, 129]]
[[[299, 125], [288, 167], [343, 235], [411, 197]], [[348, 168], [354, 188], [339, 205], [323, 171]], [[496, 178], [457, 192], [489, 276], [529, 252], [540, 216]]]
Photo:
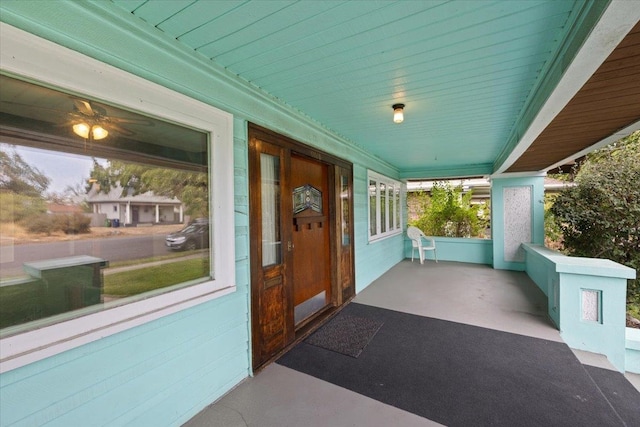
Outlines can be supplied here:
[[368, 172], [369, 241], [402, 233], [401, 184], [376, 172]]

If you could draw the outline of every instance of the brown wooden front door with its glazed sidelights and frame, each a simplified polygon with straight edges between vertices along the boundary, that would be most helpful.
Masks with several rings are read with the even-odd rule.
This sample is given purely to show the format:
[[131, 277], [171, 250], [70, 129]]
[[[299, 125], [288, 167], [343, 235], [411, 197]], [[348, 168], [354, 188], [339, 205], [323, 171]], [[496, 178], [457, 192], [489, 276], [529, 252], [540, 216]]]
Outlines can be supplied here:
[[249, 128], [254, 369], [354, 293], [351, 165], [336, 161]]

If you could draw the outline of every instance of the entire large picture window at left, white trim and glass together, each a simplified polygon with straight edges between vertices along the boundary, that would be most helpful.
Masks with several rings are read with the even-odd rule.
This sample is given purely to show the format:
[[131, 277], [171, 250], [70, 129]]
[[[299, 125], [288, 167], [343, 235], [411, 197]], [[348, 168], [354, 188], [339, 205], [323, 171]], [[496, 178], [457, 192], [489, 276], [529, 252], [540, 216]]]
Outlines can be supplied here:
[[231, 115], [1, 29], [0, 372], [232, 292]]

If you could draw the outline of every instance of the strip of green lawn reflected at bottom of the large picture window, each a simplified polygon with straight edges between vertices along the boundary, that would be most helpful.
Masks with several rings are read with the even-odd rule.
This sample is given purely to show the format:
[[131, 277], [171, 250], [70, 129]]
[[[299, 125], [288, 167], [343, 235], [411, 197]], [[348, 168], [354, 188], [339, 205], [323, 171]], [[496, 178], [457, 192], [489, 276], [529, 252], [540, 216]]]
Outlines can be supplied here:
[[130, 296], [209, 275], [209, 259], [195, 258], [105, 275], [104, 293]]

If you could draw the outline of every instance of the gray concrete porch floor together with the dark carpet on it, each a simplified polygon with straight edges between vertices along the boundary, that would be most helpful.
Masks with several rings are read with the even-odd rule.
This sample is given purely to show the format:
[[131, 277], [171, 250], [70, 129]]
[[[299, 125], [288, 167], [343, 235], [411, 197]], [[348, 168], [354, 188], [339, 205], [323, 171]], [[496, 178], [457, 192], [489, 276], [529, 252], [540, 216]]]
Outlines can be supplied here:
[[[400, 319], [435, 320], [441, 329], [468, 329], [472, 336], [486, 336], [484, 344], [500, 342], [502, 348], [486, 351], [483, 343], [465, 342], [469, 336], [464, 333], [455, 341], [440, 339], [436, 332], [432, 339], [408, 342], [401, 350], [421, 351], [432, 368], [423, 369], [416, 360], [413, 369], [406, 370], [407, 364], [397, 361], [358, 383], [340, 379], [340, 365], [352, 369], [369, 364], [362, 367], [365, 370], [376, 366], [365, 360], [385, 357], [373, 343], [385, 339], [382, 331], [391, 324], [382, 325], [357, 359], [302, 342], [292, 352], [306, 347], [309, 354], [320, 353], [320, 359], [306, 357], [311, 365], [305, 368], [307, 373], [285, 366], [296, 366], [286, 354], [185, 426], [542, 425], [558, 423], [562, 417], [575, 421], [572, 417], [578, 415], [594, 417], [594, 424], [582, 425], [602, 425], [598, 423], [603, 420], [610, 421], [608, 425], [640, 422], [640, 375], [623, 376], [606, 357], [571, 350], [547, 316], [547, 304], [544, 293], [524, 272], [404, 260], [359, 293], [345, 310], [356, 307], [360, 313], [374, 310], [377, 316], [388, 311]], [[407, 337], [419, 336], [419, 331], [411, 330], [414, 325], [408, 321], [399, 330]], [[489, 344], [490, 340], [497, 341]], [[532, 351], [529, 361], [516, 360], [515, 349], [523, 344]], [[466, 365], [461, 363], [465, 359]], [[318, 360], [324, 363], [312, 366]], [[452, 371], [437, 372], [438, 366], [446, 365]], [[536, 367], [545, 366], [532, 377]], [[453, 374], [456, 370], [459, 375]], [[393, 390], [376, 394], [371, 387], [378, 378], [387, 380], [378, 384], [380, 389], [407, 389], [412, 379], [425, 386], [409, 389], [410, 397]], [[538, 381], [549, 381], [549, 386], [544, 391], [527, 387]], [[501, 392], [511, 398], [497, 402]], [[581, 408], [579, 413], [572, 412], [574, 406]]]

